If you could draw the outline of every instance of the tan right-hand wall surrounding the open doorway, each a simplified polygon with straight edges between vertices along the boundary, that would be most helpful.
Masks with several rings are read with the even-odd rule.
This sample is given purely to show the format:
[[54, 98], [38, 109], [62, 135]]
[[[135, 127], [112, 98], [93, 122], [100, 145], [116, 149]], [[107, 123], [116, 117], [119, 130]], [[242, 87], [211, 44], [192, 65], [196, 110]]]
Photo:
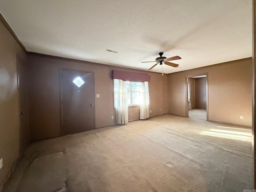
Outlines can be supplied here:
[[186, 76], [208, 73], [209, 120], [251, 126], [251, 67], [252, 58], [246, 58], [168, 74], [168, 113], [186, 116]]

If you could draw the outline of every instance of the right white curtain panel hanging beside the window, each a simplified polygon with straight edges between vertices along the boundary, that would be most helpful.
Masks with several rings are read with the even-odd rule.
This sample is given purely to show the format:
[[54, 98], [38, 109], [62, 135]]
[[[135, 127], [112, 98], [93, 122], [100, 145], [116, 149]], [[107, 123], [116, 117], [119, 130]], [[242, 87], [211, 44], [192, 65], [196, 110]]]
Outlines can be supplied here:
[[148, 82], [140, 83], [140, 119], [149, 118]]

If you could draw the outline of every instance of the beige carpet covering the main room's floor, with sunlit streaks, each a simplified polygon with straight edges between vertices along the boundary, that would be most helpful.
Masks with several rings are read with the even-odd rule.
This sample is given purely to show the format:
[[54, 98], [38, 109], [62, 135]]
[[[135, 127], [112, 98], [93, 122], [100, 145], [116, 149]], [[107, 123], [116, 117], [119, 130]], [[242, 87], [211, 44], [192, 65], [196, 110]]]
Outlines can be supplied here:
[[240, 192], [252, 184], [251, 134], [164, 115], [44, 140], [3, 192]]

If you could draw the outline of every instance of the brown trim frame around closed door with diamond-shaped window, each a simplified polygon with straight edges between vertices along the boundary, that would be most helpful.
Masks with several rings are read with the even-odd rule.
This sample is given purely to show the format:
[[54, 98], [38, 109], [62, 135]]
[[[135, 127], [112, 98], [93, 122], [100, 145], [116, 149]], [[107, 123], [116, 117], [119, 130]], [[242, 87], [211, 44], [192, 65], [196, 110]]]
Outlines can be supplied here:
[[70, 69], [70, 68], [59, 68], [60, 74], [60, 134], [64, 136], [64, 129], [63, 129], [63, 93], [62, 93], [62, 71], [75, 71], [75, 72], [84, 72], [84, 73], [92, 73], [93, 78], [93, 111], [94, 111], [94, 128], [96, 127], [96, 118], [95, 118], [95, 81], [94, 81], [94, 72], [93, 71], [86, 71], [86, 70], [77, 70], [77, 69]]

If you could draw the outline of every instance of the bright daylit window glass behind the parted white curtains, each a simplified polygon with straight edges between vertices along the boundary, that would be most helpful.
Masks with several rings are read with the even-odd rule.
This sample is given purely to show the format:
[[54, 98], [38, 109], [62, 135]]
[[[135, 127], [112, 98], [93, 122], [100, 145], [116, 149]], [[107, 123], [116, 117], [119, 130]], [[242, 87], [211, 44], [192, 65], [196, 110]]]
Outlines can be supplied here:
[[[117, 96], [118, 82], [114, 79], [114, 107], [118, 102]], [[139, 106], [140, 105], [140, 82], [126, 81], [126, 94], [128, 106]]]

